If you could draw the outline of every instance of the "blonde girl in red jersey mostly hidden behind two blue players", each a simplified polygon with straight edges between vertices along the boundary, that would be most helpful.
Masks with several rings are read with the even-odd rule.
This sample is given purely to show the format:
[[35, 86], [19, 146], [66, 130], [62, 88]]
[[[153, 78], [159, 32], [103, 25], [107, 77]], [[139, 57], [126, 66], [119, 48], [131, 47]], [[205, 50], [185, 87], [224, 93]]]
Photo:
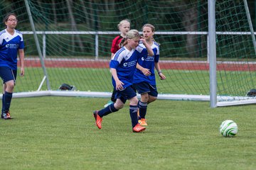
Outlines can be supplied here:
[[[130, 25], [131, 25], [131, 23], [127, 19], [120, 21], [119, 24], [117, 25], [117, 28], [119, 29], [121, 34], [112, 40], [111, 58], [114, 56], [114, 53], [116, 53], [117, 50], [120, 49], [120, 42], [125, 37], [125, 35], [127, 35], [128, 31], [130, 29]], [[107, 107], [116, 101], [116, 99], [114, 98], [115, 93], [116, 93], [116, 89], [113, 89], [111, 101], [108, 101], [104, 107]]]

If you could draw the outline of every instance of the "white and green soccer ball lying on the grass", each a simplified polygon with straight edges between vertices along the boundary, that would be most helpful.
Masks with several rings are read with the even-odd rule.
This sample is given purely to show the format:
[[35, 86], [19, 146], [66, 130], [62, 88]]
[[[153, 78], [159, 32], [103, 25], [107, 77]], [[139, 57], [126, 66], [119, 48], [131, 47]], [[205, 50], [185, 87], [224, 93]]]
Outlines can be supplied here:
[[220, 134], [224, 137], [234, 137], [238, 133], [238, 125], [233, 120], [225, 120], [220, 125]]

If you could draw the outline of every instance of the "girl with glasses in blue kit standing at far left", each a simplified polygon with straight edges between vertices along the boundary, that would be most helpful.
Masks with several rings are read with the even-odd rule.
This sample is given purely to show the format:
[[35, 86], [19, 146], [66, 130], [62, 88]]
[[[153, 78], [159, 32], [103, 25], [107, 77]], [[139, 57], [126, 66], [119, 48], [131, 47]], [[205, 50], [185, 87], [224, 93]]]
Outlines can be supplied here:
[[21, 76], [24, 75], [23, 36], [15, 30], [17, 17], [9, 13], [4, 18], [6, 29], [0, 32], [0, 77], [4, 81], [1, 118], [11, 119], [9, 108], [17, 76], [17, 54], [21, 63]]

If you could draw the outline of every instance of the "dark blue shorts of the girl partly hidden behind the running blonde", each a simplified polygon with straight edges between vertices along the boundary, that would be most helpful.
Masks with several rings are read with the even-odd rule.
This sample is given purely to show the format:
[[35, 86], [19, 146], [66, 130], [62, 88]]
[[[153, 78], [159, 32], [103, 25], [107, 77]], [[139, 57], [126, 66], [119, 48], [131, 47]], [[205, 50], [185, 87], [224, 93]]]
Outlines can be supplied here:
[[158, 92], [156, 89], [156, 85], [151, 85], [146, 81], [140, 82], [138, 84], [133, 84], [135, 89], [138, 91], [138, 94], [149, 94], [150, 96], [157, 97]]

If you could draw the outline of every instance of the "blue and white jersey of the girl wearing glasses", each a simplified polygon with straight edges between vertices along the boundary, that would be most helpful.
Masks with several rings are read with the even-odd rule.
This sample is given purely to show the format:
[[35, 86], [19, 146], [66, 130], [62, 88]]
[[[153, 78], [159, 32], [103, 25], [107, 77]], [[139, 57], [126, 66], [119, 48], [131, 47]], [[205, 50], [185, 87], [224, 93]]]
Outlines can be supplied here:
[[23, 48], [23, 37], [18, 30], [14, 31], [14, 35], [9, 34], [6, 29], [2, 30], [0, 32], [0, 67], [16, 70], [18, 49]]

